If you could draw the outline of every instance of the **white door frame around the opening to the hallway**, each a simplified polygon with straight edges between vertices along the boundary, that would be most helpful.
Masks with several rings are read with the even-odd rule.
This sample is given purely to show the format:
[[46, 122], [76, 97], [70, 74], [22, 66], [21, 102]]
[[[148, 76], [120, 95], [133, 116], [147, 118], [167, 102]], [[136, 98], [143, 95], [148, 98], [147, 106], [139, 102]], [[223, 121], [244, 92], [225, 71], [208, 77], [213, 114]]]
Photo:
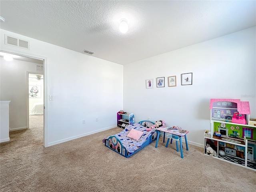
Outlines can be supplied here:
[[[44, 61], [44, 147], [48, 147], [48, 82], [47, 82], [47, 57], [34, 55], [26, 52], [20, 52], [16, 50], [8, 50], [8, 49], [1, 49], [1, 52], [6, 52], [10, 54], [16, 54], [24, 57], [31, 57], [36, 58]], [[32, 72], [34, 73], [34, 72]], [[28, 100], [28, 98], [27, 98]], [[27, 109], [28, 109], [28, 101], [27, 101]], [[28, 115], [28, 112], [27, 112]], [[28, 117], [27, 117], [28, 118]], [[28, 126], [28, 124], [27, 124]]]

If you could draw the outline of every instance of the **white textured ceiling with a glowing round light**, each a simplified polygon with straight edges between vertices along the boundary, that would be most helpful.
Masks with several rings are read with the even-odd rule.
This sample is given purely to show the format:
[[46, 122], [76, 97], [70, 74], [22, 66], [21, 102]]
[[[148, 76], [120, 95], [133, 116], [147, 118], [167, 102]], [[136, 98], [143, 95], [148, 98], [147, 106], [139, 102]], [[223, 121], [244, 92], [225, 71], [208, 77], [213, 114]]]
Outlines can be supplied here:
[[256, 26], [256, 1], [1, 0], [0, 15], [4, 30], [124, 65]]

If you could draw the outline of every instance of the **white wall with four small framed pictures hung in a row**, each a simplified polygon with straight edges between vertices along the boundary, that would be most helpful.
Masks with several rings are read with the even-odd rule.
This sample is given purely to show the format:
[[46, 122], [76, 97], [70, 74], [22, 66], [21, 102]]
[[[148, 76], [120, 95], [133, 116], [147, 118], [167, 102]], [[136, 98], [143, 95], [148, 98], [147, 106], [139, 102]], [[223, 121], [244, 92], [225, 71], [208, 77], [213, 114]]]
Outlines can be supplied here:
[[[124, 110], [136, 122], [148, 117], [167, 126], [189, 130], [191, 144], [203, 145], [210, 129], [210, 98], [238, 98], [250, 102], [256, 118], [256, 28], [222, 36], [124, 66]], [[192, 85], [181, 86], [180, 75], [193, 73]], [[168, 87], [168, 76], [177, 78]], [[156, 88], [156, 78], [165, 87]], [[146, 89], [146, 79], [154, 88]]]

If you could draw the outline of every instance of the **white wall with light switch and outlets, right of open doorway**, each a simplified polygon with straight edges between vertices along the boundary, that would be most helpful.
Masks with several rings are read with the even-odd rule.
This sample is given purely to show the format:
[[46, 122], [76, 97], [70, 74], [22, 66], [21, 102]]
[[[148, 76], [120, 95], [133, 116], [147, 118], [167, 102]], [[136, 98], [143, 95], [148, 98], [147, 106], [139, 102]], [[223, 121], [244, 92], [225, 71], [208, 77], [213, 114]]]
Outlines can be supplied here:
[[[30, 50], [5, 45], [4, 34], [29, 40]], [[0, 37], [3, 51], [46, 58], [46, 146], [116, 127], [116, 112], [123, 108], [122, 65], [6, 30]]]

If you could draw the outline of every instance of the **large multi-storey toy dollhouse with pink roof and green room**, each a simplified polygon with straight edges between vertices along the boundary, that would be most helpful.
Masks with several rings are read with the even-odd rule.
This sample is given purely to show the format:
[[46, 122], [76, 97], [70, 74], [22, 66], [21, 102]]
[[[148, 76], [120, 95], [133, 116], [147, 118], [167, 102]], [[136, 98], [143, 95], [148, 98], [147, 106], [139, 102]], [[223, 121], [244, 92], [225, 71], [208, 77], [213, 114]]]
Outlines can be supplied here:
[[204, 132], [204, 154], [256, 170], [256, 126], [249, 102], [211, 99], [211, 129]]

